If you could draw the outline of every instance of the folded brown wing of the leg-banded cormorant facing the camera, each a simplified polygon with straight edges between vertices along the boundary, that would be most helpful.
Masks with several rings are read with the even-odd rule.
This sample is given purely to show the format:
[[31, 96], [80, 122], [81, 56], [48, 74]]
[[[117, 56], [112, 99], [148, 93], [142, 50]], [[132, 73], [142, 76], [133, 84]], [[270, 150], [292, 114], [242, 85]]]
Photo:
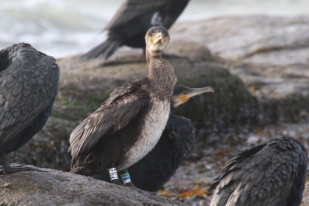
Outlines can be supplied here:
[[[122, 86], [122, 90], [125, 89]], [[129, 88], [132, 85], [128, 86]], [[121, 87], [120, 87], [121, 88]], [[89, 151], [98, 141], [104, 140], [108, 136], [117, 132], [121, 128], [125, 127], [134, 119], [139, 111], [149, 102], [149, 93], [145, 90], [137, 90], [129, 93], [118, 93], [121, 90], [116, 88], [111, 94], [110, 98], [105, 101], [102, 106], [93, 112], [85, 121], [83, 121], [83, 126], [79, 125], [75, 130], [81, 130], [79, 142], [76, 146], [74, 154], [72, 156], [73, 166], [75, 162], [80, 158], [82, 161], [87, 156], [87, 151]], [[117, 98], [115, 98], [115, 95]], [[74, 142], [76, 134], [79, 131], [73, 131], [72, 140]], [[76, 144], [76, 142], [75, 142]], [[74, 148], [71, 148], [71, 153], [73, 153]]]

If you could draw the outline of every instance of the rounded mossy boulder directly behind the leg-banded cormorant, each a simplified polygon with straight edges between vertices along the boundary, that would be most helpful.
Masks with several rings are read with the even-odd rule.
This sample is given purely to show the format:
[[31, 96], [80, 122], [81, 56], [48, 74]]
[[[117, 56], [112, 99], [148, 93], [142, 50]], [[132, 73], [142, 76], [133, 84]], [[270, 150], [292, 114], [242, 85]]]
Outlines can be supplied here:
[[[197, 128], [211, 126], [224, 129], [235, 124], [256, 122], [259, 112], [256, 99], [241, 80], [231, 75], [222, 65], [188, 58], [166, 59], [175, 70], [178, 84], [192, 88], [212, 86], [215, 90], [214, 94], [208, 93], [192, 98], [177, 108], [176, 114], [191, 118]], [[95, 111], [108, 98], [113, 88], [148, 74], [148, 66], [144, 59], [129, 63], [127, 60], [128, 58], [124, 57], [117, 61], [118, 64], [97, 67], [93, 66], [91, 61], [89, 64], [83, 62], [77, 64], [75, 69], [68, 69], [72, 68], [68, 62], [76, 64], [76, 61], [80, 61], [78, 57], [57, 61], [63, 71], [59, 85], [60, 95], [56, 99], [53, 114], [63, 118], [75, 113], [75, 120], [83, 120], [86, 117], [85, 113], [88, 115]], [[62, 101], [67, 99], [71, 101], [64, 102], [64, 107]]]

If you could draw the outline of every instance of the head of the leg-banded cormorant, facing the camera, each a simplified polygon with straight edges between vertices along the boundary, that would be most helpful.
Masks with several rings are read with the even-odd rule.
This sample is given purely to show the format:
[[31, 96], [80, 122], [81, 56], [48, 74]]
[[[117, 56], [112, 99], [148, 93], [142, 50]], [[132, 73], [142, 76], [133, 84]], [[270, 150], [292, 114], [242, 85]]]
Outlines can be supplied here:
[[167, 46], [170, 35], [168, 34], [166, 28], [161, 26], [151, 27], [146, 36], [146, 48], [153, 53], [161, 53], [162, 50]]

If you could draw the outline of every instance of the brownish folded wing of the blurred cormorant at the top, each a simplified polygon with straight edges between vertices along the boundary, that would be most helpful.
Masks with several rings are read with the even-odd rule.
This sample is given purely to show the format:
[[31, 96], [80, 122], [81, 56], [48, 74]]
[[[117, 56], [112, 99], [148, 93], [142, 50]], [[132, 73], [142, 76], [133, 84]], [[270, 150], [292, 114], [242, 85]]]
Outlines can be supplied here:
[[158, 8], [164, 7], [166, 2], [166, 0], [127, 0], [121, 5], [114, 18], [106, 25], [104, 30], [121, 27], [132, 19], [142, 17], [150, 11], [155, 11]]

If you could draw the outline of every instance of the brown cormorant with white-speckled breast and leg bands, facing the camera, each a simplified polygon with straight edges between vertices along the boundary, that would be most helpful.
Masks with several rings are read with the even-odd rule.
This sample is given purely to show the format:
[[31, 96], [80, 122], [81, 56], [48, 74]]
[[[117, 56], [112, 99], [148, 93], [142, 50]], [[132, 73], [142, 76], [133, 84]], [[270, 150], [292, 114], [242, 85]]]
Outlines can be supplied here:
[[76, 138], [79, 142], [71, 172], [88, 176], [109, 172], [112, 183], [119, 185], [117, 169], [124, 175], [121, 175], [124, 186], [141, 191], [133, 186], [126, 169], [159, 141], [170, 114], [170, 98], [176, 83], [173, 68], [162, 58], [170, 40], [167, 30], [151, 27], [145, 40], [149, 75], [115, 88], [109, 99], [75, 128], [70, 145]]

